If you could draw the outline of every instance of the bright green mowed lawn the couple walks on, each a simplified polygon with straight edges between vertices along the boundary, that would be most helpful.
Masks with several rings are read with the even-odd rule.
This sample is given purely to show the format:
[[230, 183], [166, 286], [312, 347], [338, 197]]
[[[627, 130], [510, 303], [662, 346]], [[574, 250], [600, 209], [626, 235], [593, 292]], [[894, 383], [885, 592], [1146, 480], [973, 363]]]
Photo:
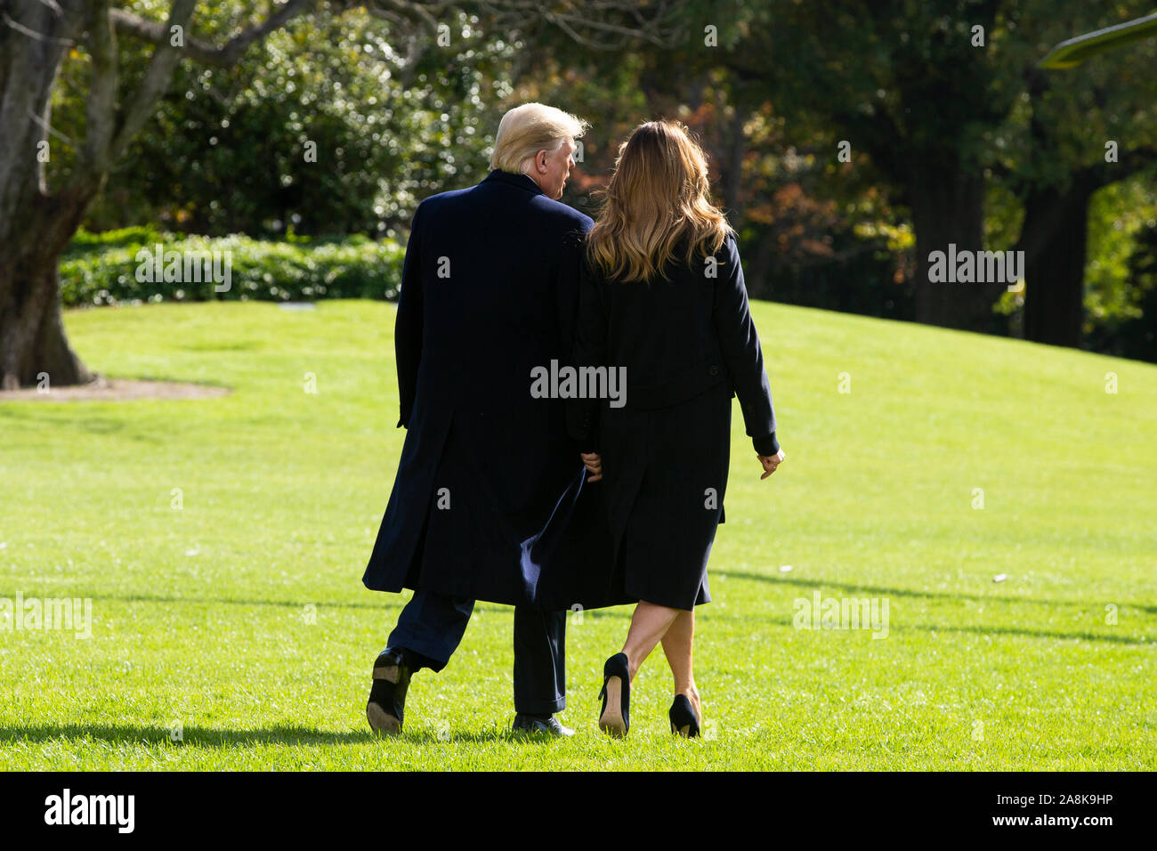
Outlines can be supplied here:
[[[93, 601], [89, 639], [0, 631], [0, 768], [1157, 768], [1157, 367], [753, 310], [788, 460], [760, 482], [736, 404], [698, 612], [709, 735], [666, 732], [659, 652], [629, 738], [599, 733], [619, 608], [572, 622], [577, 733], [545, 742], [507, 734], [511, 610], [492, 604], [414, 677], [400, 739], [366, 726], [406, 599], [361, 585], [403, 441], [392, 306], [69, 313], [93, 368], [235, 393], [0, 403], [0, 597]], [[816, 593], [886, 602], [886, 638], [795, 628]]]

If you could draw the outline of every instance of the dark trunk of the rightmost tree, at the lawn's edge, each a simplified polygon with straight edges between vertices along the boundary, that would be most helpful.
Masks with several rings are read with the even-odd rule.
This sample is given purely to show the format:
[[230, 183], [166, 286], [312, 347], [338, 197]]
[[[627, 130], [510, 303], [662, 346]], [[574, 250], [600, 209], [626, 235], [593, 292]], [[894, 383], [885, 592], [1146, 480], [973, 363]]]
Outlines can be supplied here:
[[1079, 349], [1084, 267], [1093, 188], [1074, 182], [1063, 193], [1034, 191], [1025, 200], [1018, 245], [1025, 251], [1024, 338]]

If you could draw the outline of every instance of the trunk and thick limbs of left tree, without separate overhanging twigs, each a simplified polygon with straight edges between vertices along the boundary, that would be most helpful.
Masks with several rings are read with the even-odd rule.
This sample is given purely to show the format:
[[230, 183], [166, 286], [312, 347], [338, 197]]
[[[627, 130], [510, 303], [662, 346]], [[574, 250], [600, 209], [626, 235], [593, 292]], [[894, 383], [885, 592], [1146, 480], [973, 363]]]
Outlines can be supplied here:
[[[93, 199], [130, 140], [155, 112], [182, 57], [228, 65], [250, 44], [285, 25], [310, 0], [288, 0], [267, 19], [213, 46], [191, 31], [196, 0], [174, 0], [164, 23], [109, 0], [0, 2], [0, 387], [46, 374], [53, 384], [90, 374], [65, 336], [57, 267]], [[120, 76], [121, 37], [153, 45], [139, 80]], [[58, 185], [47, 166], [54, 145], [52, 93], [69, 51], [88, 54], [84, 135]]]

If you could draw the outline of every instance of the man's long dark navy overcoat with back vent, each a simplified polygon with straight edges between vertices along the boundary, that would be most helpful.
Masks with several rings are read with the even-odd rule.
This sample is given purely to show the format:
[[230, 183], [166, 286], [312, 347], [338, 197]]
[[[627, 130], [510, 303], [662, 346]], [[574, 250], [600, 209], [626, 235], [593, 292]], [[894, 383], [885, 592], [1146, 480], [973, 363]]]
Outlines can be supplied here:
[[[576, 509], [604, 513], [582, 499], [565, 399], [531, 394], [536, 367], [568, 362], [591, 223], [499, 170], [419, 205], [395, 329], [407, 431], [366, 587], [543, 603], [541, 565], [560, 546], [563, 575], [607, 558], [605, 524], [568, 528]], [[553, 603], [580, 593], [568, 584]]]

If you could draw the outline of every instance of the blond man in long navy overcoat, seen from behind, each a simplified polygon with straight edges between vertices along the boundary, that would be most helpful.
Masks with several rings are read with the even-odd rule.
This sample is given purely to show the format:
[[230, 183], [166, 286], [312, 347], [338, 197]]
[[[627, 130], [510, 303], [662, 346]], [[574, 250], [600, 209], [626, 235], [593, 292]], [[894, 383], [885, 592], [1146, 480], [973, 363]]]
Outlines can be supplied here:
[[[554, 718], [565, 612], [535, 601], [584, 477], [565, 401], [532, 394], [531, 376], [570, 355], [592, 222], [557, 199], [584, 130], [561, 110], [517, 107], [489, 176], [414, 213], [395, 329], [406, 439], [363, 582], [415, 593], [374, 665], [375, 731], [400, 732], [410, 677], [445, 666], [482, 600], [515, 607], [515, 729], [573, 732]], [[566, 549], [575, 556], [573, 540]]]

